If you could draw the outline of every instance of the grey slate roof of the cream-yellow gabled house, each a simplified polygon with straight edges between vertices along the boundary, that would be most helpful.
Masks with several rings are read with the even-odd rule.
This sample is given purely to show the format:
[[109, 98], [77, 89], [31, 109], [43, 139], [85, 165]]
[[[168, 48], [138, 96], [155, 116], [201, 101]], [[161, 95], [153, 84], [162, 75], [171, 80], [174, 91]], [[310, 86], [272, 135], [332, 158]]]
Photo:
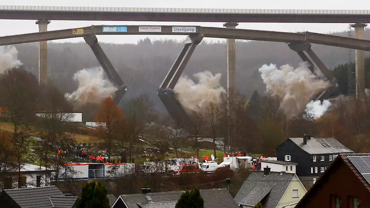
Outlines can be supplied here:
[[263, 175], [263, 171], [252, 172], [240, 187], [238, 194], [235, 196], [235, 201], [238, 204], [254, 206], [266, 196], [267, 199], [263, 208], [275, 208], [293, 180], [294, 175], [278, 172]]

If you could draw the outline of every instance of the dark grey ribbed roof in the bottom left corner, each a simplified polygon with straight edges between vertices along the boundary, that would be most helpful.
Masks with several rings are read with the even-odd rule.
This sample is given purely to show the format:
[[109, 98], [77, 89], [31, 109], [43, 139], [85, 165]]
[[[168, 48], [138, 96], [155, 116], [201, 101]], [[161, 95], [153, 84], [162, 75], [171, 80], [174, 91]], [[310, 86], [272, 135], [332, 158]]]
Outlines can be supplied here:
[[49, 196], [64, 196], [54, 185], [37, 188], [6, 189], [4, 192], [21, 208], [51, 208]]

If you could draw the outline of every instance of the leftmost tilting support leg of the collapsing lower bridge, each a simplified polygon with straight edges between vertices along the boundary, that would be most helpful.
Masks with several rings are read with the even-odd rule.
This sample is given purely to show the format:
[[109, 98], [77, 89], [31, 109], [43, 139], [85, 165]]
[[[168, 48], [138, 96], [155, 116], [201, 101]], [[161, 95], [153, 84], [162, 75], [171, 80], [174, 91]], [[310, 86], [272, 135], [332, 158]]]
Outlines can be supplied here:
[[113, 100], [115, 103], [120, 103], [122, 97], [125, 95], [127, 88], [125, 83], [118, 75], [117, 71], [114, 69], [112, 63], [109, 61], [107, 55], [105, 55], [104, 51], [100, 47], [98, 43], [98, 38], [95, 35], [89, 35], [84, 37], [85, 42], [90, 46], [92, 52], [94, 53], [95, 57], [98, 59], [101, 67], [105, 71], [108, 76], [109, 81], [118, 88], [118, 90], [114, 93]]

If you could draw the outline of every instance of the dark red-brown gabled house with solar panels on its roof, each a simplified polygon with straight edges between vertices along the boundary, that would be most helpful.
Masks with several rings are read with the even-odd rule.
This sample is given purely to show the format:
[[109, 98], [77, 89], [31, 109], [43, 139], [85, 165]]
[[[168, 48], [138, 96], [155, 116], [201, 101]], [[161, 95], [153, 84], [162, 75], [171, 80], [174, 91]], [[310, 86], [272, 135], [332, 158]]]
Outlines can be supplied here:
[[370, 154], [341, 154], [297, 204], [304, 207], [370, 207]]

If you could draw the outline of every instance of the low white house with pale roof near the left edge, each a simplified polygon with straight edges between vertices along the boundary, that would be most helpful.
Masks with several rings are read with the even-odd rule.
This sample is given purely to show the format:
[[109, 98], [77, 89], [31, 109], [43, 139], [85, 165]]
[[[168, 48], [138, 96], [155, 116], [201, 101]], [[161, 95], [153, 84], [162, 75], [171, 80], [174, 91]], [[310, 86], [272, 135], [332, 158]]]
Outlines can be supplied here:
[[[48, 185], [50, 184], [52, 172], [54, 172], [54, 170], [51, 170], [50, 168], [33, 164], [24, 164], [21, 166], [21, 186], [32, 188], [40, 187], [41, 185]], [[18, 181], [18, 171], [8, 172], [6, 174], [4, 188], [15, 188], [13, 187], [13, 181]]]

